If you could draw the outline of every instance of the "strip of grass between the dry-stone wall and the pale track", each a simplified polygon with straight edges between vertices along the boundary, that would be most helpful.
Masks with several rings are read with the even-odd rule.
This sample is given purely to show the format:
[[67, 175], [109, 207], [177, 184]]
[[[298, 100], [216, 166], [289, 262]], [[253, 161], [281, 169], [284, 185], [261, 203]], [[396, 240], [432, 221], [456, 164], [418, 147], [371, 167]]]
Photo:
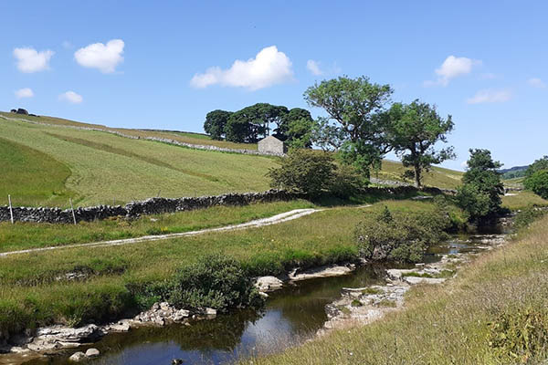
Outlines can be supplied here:
[[166, 235], [240, 224], [314, 204], [291, 202], [257, 203], [246, 206], [216, 206], [174, 214], [145, 215], [136, 220], [112, 218], [79, 224], [0, 223], [0, 252], [27, 248], [82, 244], [142, 235]]

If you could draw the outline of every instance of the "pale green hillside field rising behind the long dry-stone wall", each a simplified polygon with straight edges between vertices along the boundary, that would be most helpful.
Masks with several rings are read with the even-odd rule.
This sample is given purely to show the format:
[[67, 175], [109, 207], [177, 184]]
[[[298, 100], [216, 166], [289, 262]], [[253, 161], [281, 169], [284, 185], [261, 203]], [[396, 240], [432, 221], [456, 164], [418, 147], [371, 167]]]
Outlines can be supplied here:
[[[279, 166], [277, 158], [268, 156], [195, 150], [142, 138], [257, 149], [257, 144], [213, 141], [200, 133], [116, 129], [9, 112], [0, 112], [0, 116], [10, 118], [0, 118], [0, 205], [6, 203], [7, 194], [15, 205], [67, 207], [69, 198], [85, 206], [152, 196], [259, 192], [269, 189], [266, 174]], [[403, 178], [405, 170], [400, 162], [385, 161], [374, 177], [412, 183]], [[462, 172], [434, 168], [425, 174], [424, 183], [455, 188], [461, 176]]]

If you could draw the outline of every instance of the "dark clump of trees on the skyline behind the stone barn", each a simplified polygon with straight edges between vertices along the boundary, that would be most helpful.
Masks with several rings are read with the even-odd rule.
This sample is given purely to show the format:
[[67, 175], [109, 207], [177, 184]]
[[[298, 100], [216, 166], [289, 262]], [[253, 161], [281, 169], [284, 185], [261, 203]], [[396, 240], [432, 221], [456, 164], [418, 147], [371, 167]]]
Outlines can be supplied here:
[[311, 112], [301, 108], [258, 103], [242, 110], [213, 110], [205, 116], [204, 130], [214, 140], [256, 143], [273, 135], [292, 147], [311, 147]]

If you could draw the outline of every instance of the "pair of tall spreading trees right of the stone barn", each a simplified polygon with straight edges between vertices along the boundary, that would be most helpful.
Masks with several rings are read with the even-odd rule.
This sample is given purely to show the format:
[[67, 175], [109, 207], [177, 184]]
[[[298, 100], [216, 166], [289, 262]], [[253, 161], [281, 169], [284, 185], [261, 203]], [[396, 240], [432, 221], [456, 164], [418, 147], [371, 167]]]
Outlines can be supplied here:
[[312, 142], [338, 151], [342, 162], [369, 176], [394, 151], [406, 167], [412, 167], [417, 187], [432, 164], [454, 158], [453, 148], [437, 150], [453, 130], [451, 116], [442, 118], [432, 106], [416, 99], [410, 104], [392, 102], [389, 85], [369, 78], [333, 78], [307, 89], [304, 98], [329, 118], [316, 121]]

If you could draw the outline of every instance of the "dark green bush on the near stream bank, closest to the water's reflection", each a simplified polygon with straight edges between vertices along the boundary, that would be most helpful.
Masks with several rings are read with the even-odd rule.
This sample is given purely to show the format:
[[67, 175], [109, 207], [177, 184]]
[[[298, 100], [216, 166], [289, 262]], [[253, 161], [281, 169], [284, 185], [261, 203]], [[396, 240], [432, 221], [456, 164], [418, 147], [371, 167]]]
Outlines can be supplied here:
[[174, 276], [168, 301], [176, 308], [259, 307], [262, 297], [242, 266], [225, 255], [209, 255]]

